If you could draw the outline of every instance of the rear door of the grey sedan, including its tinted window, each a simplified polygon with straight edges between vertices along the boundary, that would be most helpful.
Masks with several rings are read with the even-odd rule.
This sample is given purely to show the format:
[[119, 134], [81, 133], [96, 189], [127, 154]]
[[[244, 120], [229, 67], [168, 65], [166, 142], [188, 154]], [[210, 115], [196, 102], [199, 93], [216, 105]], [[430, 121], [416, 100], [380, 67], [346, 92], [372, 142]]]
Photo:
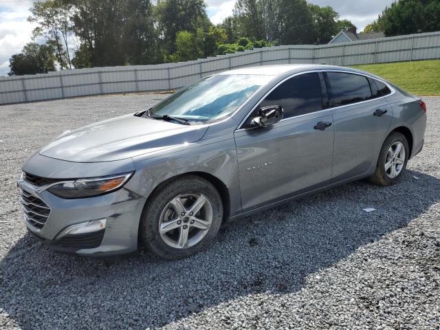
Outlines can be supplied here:
[[340, 181], [375, 166], [393, 111], [366, 76], [326, 72], [325, 81], [335, 125], [333, 181]]

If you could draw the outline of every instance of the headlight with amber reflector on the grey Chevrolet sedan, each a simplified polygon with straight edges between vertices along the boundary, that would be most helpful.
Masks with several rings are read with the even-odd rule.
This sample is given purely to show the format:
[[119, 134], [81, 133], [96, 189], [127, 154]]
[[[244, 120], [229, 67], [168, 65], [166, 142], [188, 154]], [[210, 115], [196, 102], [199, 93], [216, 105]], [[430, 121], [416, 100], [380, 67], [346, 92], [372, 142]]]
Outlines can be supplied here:
[[126, 184], [126, 181], [129, 181], [131, 175], [133, 175], [133, 172], [112, 175], [111, 177], [65, 181], [56, 184], [47, 190], [52, 192], [52, 194], [65, 199], [94, 197], [122, 188], [122, 186]]

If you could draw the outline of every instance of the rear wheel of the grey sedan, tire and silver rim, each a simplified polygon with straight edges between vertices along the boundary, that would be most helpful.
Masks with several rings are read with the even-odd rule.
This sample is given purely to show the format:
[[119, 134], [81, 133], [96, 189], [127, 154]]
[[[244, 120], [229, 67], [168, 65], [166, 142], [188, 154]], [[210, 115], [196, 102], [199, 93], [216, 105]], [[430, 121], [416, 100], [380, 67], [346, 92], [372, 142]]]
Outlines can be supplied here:
[[[395, 155], [399, 148], [399, 154]], [[392, 153], [393, 151], [393, 153]], [[379, 159], [377, 159], [376, 170], [370, 181], [379, 186], [391, 186], [401, 178], [406, 169], [409, 157], [409, 146], [406, 137], [398, 132], [392, 132], [382, 145]], [[391, 164], [391, 166], [389, 166]], [[394, 170], [394, 172], [393, 172]]]

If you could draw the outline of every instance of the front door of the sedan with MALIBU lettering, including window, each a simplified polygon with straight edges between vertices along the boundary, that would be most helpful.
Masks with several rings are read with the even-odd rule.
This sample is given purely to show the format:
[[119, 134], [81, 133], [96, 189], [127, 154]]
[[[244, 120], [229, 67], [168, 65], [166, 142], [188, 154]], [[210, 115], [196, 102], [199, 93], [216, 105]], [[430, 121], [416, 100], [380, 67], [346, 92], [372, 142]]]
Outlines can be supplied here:
[[[325, 186], [331, 180], [333, 117], [323, 110], [320, 74], [289, 78], [234, 133], [243, 212]], [[284, 119], [251, 126], [261, 107], [280, 105]], [[325, 123], [320, 125], [318, 123]], [[326, 126], [326, 127], [323, 127]]]

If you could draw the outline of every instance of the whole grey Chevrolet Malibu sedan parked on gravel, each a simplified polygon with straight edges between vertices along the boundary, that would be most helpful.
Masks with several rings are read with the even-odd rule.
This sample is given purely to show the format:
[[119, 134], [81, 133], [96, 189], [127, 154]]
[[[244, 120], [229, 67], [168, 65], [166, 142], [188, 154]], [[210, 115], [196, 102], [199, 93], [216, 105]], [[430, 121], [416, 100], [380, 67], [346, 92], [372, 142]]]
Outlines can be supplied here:
[[422, 100], [366, 72], [235, 69], [34, 153], [25, 224], [61, 252], [181, 259], [230, 219], [358, 179], [395, 184], [425, 127]]

